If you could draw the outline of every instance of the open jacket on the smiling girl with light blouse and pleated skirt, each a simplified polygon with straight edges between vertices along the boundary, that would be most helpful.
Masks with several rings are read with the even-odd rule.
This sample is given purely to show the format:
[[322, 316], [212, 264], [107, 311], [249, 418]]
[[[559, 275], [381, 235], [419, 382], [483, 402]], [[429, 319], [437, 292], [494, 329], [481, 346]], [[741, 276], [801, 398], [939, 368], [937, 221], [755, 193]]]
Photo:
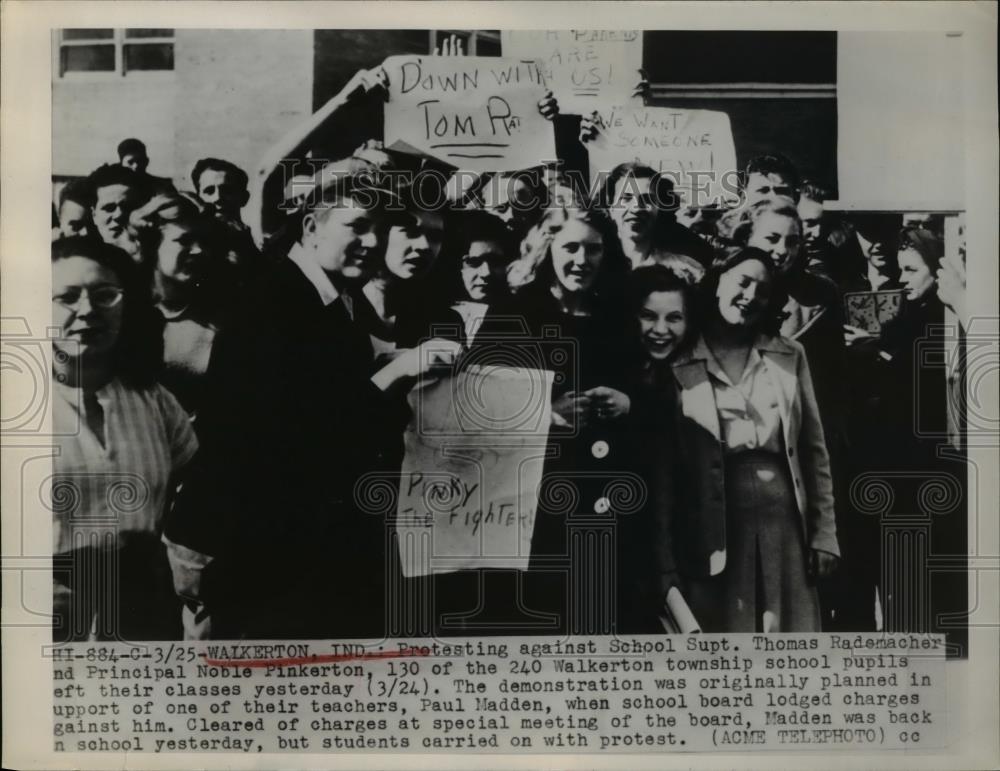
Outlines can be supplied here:
[[[766, 335], [754, 347], [778, 388], [785, 457], [805, 541], [839, 556], [830, 458], [805, 352], [798, 343]], [[704, 340], [698, 340], [673, 364], [684, 469], [676, 491], [674, 554], [681, 572], [702, 576], [717, 575], [726, 566], [725, 457], [706, 364], [710, 355]]]

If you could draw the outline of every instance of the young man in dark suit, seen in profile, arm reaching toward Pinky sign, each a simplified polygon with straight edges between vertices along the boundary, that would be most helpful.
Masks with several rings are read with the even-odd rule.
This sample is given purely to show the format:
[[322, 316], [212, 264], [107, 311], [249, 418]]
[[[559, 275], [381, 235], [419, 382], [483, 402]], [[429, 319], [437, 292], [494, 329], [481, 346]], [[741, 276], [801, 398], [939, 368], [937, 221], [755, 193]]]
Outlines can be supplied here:
[[351, 175], [323, 180], [212, 352], [201, 457], [164, 533], [189, 637], [382, 635], [386, 522], [355, 487], [399, 441], [396, 392], [458, 345], [432, 341], [371, 375], [347, 290], [383, 246], [378, 196]]

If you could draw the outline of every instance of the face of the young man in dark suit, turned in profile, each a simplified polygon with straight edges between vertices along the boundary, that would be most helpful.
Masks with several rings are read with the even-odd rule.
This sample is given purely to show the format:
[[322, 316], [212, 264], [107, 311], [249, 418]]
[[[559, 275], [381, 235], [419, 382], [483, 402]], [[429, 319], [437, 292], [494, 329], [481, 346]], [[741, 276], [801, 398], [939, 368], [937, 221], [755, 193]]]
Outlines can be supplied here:
[[352, 283], [367, 281], [379, 245], [371, 212], [353, 198], [310, 214], [306, 218], [302, 244], [327, 273]]

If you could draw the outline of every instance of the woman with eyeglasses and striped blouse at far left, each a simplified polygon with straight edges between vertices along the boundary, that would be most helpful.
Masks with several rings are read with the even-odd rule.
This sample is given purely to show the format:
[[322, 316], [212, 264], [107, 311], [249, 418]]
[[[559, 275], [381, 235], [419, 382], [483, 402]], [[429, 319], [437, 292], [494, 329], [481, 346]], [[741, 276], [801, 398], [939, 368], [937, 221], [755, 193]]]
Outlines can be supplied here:
[[163, 339], [148, 284], [121, 249], [62, 239], [52, 316], [53, 637], [179, 638], [160, 523], [198, 442], [156, 382]]

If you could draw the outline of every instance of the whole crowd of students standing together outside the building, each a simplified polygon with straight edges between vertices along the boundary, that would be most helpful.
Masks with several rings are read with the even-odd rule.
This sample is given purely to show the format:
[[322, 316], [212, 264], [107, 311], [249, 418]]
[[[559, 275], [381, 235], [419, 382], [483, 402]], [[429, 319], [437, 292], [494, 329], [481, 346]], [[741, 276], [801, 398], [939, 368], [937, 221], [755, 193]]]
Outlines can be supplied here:
[[[411, 161], [366, 142], [266, 239], [219, 159], [178, 192], [129, 140], [61, 191], [56, 640], [658, 633], [673, 588], [705, 632], [864, 631], [902, 601], [849, 488], [937, 462], [914, 415], [944, 420], [947, 377], [913, 357], [964, 313], [940, 223], [831, 229], [780, 155], [724, 211], [639, 162], [428, 208], [381, 182]], [[891, 289], [880, 334], [845, 326], [845, 292]], [[365, 486], [398, 484], [414, 386], [473, 360], [554, 373], [529, 564], [403, 577]]]

